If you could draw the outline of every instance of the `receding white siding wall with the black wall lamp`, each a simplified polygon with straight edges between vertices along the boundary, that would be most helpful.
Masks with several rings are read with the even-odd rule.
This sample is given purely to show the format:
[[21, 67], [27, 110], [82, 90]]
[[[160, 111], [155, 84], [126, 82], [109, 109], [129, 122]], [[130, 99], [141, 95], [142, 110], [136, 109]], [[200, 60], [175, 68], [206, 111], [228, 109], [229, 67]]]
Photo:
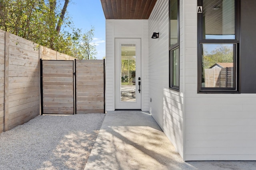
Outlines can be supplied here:
[[180, 92], [169, 90], [169, 1], [158, 0], [150, 15], [149, 35], [159, 32], [159, 39], [149, 39], [150, 113], [183, 157], [184, 28], [180, 1]]

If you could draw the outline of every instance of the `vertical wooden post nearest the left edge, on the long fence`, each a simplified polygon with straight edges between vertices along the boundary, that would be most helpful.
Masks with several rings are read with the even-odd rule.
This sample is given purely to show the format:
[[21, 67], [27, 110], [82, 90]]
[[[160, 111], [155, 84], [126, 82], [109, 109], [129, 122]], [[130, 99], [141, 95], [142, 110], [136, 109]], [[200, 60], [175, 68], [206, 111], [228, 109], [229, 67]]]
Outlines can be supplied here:
[[9, 127], [9, 41], [10, 33], [5, 32], [4, 61], [4, 131]]

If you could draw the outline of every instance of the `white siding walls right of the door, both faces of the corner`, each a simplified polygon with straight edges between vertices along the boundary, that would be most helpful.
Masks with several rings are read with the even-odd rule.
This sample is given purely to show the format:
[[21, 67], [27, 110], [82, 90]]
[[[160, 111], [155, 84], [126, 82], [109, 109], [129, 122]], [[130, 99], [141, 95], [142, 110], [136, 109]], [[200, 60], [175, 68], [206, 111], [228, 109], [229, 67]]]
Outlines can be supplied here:
[[[243, 3], [246, 3], [242, 1]], [[149, 110], [184, 160], [256, 160], [256, 94], [198, 94], [197, 0], [180, 0], [180, 92], [169, 90], [168, 0], [148, 20]]]

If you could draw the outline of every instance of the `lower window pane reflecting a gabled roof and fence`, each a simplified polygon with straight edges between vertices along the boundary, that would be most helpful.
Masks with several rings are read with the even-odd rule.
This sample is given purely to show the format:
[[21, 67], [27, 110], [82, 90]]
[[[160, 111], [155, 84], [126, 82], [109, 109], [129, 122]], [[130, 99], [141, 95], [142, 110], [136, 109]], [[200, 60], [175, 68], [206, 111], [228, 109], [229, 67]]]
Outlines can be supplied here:
[[234, 87], [234, 44], [202, 44], [202, 87]]

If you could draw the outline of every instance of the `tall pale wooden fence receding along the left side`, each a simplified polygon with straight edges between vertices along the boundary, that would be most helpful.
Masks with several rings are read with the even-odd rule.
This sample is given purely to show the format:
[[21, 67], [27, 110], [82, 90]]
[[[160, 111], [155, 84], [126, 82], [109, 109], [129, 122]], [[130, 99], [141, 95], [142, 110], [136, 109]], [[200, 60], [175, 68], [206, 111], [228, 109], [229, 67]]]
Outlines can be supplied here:
[[39, 115], [41, 57], [74, 60], [0, 30], [0, 133]]

